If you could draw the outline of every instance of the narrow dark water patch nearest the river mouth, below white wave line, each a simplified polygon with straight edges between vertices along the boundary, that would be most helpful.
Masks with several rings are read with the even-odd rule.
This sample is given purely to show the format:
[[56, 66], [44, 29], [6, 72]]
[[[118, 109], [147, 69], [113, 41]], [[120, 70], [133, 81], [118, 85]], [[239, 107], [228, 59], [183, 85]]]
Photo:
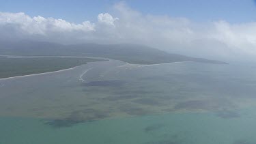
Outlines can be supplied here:
[[119, 87], [125, 83], [125, 81], [91, 81], [89, 83], [83, 83], [82, 85], [85, 87]]

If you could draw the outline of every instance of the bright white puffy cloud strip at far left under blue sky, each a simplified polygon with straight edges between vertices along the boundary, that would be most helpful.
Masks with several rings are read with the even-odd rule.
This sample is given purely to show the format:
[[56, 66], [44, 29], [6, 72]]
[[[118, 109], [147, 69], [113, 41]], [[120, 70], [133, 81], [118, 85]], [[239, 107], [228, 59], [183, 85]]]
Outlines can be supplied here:
[[13, 25], [24, 33], [46, 34], [51, 32], [94, 31], [94, 24], [85, 21], [74, 24], [62, 19], [44, 18], [42, 16], [31, 17], [23, 12], [0, 12], [0, 26]]

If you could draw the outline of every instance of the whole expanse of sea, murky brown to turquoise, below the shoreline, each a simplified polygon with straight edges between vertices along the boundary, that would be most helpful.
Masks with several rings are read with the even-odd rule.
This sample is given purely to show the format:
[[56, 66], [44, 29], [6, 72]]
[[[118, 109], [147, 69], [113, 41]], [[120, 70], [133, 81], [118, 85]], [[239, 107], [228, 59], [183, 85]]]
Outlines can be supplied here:
[[255, 74], [110, 60], [0, 81], [0, 143], [256, 143]]

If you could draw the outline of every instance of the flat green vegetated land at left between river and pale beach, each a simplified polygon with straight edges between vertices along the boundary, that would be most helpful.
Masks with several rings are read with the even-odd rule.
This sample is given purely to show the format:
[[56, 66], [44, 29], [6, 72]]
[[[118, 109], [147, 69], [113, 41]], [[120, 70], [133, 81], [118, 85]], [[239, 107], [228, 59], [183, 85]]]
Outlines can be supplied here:
[[87, 58], [4, 58], [0, 57], [0, 78], [12, 76], [23, 76], [27, 74], [38, 74], [53, 72], [75, 66], [81, 66], [87, 62], [103, 61], [101, 59]]

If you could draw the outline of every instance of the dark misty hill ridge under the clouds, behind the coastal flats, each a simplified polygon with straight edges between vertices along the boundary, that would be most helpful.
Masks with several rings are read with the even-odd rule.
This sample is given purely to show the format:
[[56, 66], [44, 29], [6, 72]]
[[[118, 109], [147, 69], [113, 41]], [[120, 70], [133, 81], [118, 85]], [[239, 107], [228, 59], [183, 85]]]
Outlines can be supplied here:
[[106, 57], [137, 64], [197, 61], [225, 63], [223, 61], [188, 57], [160, 51], [141, 44], [57, 44], [51, 42], [0, 42], [1, 55], [69, 55]]

